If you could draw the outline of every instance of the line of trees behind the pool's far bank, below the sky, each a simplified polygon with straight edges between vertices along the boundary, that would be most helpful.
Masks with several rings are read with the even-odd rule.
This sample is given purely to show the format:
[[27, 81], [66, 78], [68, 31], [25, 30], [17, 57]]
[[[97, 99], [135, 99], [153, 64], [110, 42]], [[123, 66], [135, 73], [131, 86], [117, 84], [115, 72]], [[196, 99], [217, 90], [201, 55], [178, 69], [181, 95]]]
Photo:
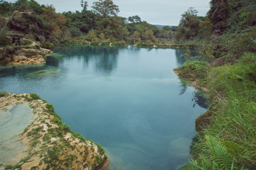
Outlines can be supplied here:
[[[139, 16], [124, 18], [117, 16], [118, 12], [119, 7], [112, 0], [95, 1], [92, 10], [88, 10], [87, 1], [82, 0], [80, 11], [64, 13], [56, 13], [53, 6], [40, 5], [34, 0], [4, 1], [0, 4], [0, 28], [2, 37], [4, 34], [14, 35], [11, 31], [15, 30], [29, 34], [30, 37], [24, 35], [28, 39], [53, 45], [89, 42], [93, 45], [126, 45], [173, 38], [175, 28], [157, 28]], [[11, 18], [7, 20], [7, 17]]]

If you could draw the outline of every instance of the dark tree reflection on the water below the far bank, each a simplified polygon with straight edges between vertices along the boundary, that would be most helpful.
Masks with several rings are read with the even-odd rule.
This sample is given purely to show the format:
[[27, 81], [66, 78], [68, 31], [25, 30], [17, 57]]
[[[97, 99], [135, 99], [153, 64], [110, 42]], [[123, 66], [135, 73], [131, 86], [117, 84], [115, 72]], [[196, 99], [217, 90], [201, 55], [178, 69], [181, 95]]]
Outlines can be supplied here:
[[127, 47], [105, 47], [90, 45], [61, 45], [54, 52], [65, 55], [64, 57], [78, 57], [82, 60], [84, 67], [90, 62], [95, 65], [95, 71], [102, 75], [110, 75], [117, 68], [117, 57], [119, 50]]

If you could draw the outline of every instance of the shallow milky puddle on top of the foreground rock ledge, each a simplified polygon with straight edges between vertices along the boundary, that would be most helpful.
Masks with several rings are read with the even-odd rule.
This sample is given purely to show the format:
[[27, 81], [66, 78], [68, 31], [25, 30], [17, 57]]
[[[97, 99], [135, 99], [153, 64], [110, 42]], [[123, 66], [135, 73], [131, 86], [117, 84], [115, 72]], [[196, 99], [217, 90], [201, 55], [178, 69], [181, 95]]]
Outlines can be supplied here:
[[9, 111], [0, 111], [0, 164], [18, 163], [14, 157], [25, 149], [18, 134], [33, 122], [33, 109], [28, 103], [8, 106]]

